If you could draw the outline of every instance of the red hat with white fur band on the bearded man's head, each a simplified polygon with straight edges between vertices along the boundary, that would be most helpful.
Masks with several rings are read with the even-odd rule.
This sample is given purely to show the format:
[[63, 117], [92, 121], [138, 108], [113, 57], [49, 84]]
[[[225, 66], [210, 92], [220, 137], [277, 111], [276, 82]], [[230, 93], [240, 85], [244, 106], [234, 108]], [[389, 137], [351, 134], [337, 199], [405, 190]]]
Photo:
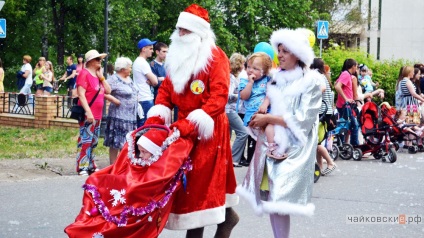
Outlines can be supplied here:
[[197, 4], [191, 4], [180, 13], [177, 21], [177, 28], [184, 28], [198, 34], [201, 38], [210, 35], [209, 13]]

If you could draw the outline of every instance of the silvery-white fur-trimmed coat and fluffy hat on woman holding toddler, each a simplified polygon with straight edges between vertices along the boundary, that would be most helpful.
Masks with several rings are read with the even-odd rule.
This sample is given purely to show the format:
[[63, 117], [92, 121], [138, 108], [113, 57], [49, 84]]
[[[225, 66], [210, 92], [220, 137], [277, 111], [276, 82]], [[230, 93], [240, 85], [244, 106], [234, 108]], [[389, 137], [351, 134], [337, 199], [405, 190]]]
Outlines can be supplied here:
[[247, 199], [258, 215], [311, 216], [315, 210], [310, 199], [322, 95], [319, 75], [309, 70], [314, 54], [299, 29], [278, 30], [270, 41], [276, 50], [282, 44], [306, 65], [303, 69], [297, 65], [275, 73], [273, 83], [268, 85], [270, 113], [281, 115], [287, 124], [286, 128], [274, 128], [276, 142], [287, 148], [288, 157], [267, 157], [265, 134], [259, 134], [253, 161], [243, 184], [237, 187], [237, 194]]

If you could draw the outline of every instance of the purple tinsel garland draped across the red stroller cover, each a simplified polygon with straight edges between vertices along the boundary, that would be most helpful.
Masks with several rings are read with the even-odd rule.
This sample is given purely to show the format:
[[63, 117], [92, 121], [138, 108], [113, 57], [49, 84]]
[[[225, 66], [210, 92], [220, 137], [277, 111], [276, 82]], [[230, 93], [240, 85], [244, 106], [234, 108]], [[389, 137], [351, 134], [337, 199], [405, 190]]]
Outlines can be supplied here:
[[161, 198], [159, 201], [151, 201], [149, 202], [145, 207], [133, 207], [133, 206], [125, 206], [122, 209], [122, 212], [120, 214], [120, 219], [118, 216], [112, 216], [109, 212], [109, 209], [101, 199], [100, 193], [96, 186], [90, 185], [90, 184], [84, 184], [82, 188], [89, 192], [91, 196], [93, 197], [94, 204], [97, 205], [97, 209], [100, 211], [102, 216], [105, 218], [107, 222], [113, 222], [118, 227], [126, 226], [128, 221], [128, 215], [133, 216], [143, 216], [146, 214], [149, 214], [153, 212], [156, 209], [160, 209], [165, 207], [165, 205], [168, 203], [169, 199], [171, 198], [172, 194], [175, 192], [178, 181], [183, 176], [184, 172], [192, 170], [193, 166], [191, 164], [190, 158], [188, 158], [183, 165], [178, 170], [177, 174], [174, 175], [174, 179], [169, 184], [169, 188], [165, 191], [165, 196]]

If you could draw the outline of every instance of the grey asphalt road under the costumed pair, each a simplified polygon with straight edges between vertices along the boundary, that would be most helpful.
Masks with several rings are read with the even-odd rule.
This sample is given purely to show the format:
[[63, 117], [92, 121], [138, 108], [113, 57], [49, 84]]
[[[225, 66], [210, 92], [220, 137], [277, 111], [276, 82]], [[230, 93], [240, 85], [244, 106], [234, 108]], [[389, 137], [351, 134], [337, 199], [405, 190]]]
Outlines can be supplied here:
[[[398, 153], [394, 164], [373, 159], [336, 163], [338, 169], [314, 185], [315, 216], [291, 217], [291, 237], [424, 237], [424, 153]], [[239, 183], [246, 170], [236, 168]], [[0, 182], [0, 237], [66, 237], [63, 229], [80, 209], [84, 180], [58, 176]], [[243, 200], [235, 210], [241, 219], [232, 237], [272, 237], [267, 216], [255, 216]], [[376, 221], [377, 216], [399, 215], [406, 215], [407, 223], [417, 216], [421, 222], [358, 224], [347, 219], [363, 216]], [[213, 237], [215, 229], [207, 227], [204, 237]], [[184, 235], [184, 231], [164, 230], [160, 237]]]

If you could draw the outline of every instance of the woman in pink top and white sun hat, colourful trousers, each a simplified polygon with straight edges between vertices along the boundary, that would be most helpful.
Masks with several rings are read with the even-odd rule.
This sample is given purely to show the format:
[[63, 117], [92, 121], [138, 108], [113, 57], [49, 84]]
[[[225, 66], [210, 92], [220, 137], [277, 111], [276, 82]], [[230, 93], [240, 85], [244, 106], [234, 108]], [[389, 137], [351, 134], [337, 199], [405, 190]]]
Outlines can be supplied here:
[[104, 96], [111, 91], [101, 70], [102, 61], [106, 56], [107, 54], [99, 54], [97, 50], [88, 51], [85, 54], [85, 68], [77, 77], [78, 105], [85, 110], [85, 120], [79, 122], [79, 152], [76, 166], [79, 175], [86, 176], [97, 170], [93, 150], [97, 147], [100, 134]]

